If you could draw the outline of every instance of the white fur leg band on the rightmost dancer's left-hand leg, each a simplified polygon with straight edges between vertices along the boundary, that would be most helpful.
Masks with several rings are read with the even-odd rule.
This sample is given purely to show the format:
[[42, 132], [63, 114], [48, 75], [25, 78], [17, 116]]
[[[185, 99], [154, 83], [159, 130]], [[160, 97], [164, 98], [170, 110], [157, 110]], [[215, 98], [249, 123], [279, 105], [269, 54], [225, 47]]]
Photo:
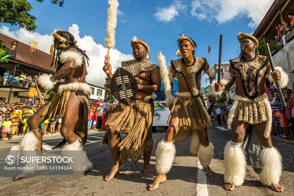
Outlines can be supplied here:
[[241, 143], [227, 142], [225, 145], [225, 183], [232, 183], [236, 187], [244, 182], [246, 175], [246, 158], [244, 151], [240, 148]]

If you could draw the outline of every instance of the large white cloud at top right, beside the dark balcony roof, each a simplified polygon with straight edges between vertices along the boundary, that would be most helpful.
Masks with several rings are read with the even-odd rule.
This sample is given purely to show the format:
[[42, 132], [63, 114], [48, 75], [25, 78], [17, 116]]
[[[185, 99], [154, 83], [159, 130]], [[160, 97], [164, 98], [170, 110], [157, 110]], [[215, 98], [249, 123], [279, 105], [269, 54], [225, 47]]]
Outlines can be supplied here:
[[215, 18], [220, 24], [248, 17], [251, 19], [248, 26], [255, 29], [272, 4], [273, 0], [193, 0], [190, 12], [199, 20]]

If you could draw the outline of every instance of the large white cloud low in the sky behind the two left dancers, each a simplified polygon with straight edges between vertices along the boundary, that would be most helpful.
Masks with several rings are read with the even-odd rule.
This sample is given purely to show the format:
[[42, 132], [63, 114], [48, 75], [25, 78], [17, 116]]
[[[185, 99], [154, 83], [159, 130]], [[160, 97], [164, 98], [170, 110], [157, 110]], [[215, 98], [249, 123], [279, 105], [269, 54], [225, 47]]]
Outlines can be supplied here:
[[[53, 37], [51, 36], [53, 31], [48, 32], [48, 34], [41, 35], [37, 32], [30, 33], [24, 29], [10, 31], [6, 26], [0, 27], [0, 31], [3, 32], [4, 35], [12, 37], [28, 45], [30, 41], [39, 42], [37, 49], [46, 53], [49, 53], [50, 46], [53, 44]], [[104, 66], [104, 56], [106, 55], [107, 48], [99, 43], [96, 43], [91, 36], [85, 35], [81, 38], [79, 35], [79, 27], [76, 24], [70, 26], [68, 31], [73, 34], [75, 40], [78, 41], [77, 45], [79, 48], [86, 50], [86, 54], [90, 58], [90, 67], [87, 67], [88, 75], [86, 76], [86, 81], [94, 85], [103, 86], [106, 74], [102, 71], [102, 67]], [[116, 49], [110, 49], [110, 63], [112, 66], [112, 73], [114, 73], [114, 71], [121, 66], [121, 61], [127, 61], [131, 59], [134, 59], [133, 55], [124, 54]]]

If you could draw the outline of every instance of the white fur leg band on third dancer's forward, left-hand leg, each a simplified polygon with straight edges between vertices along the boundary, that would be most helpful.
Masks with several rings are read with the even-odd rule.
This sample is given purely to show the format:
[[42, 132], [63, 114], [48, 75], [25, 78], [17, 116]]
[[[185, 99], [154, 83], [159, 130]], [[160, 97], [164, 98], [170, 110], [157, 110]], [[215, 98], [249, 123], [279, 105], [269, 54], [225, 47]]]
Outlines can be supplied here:
[[174, 142], [166, 142], [161, 140], [156, 148], [155, 167], [158, 174], [167, 173], [173, 165], [173, 159], [176, 155], [176, 147]]

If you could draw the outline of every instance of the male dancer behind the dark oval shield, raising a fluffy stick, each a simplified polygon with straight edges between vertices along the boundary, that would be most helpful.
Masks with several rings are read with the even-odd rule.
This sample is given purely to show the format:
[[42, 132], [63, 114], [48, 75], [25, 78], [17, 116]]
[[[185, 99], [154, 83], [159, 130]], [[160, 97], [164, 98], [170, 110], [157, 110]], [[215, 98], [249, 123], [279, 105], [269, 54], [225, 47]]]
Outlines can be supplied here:
[[[153, 123], [153, 99], [156, 95], [153, 92], [160, 91], [161, 81], [158, 66], [148, 61], [150, 56], [149, 46], [146, 42], [134, 37], [131, 40], [134, 60], [121, 62], [121, 67], [129, 71], [137, 80], [138, 93], [136, 100], [130, 106], [117, 105], [112, 111], [110, 118], [105, 125], [108, 127], [102, 144], [108, 144], [113, 159], [113, 167], [106, 181], [111, 180], [128, 155], [131, 155], [132, 162], [136, 163], [142, 156], [144, 158], [145, 175], [152, 175], [149, 161], [153, 148], [152, 123]], [[111, 65], [106, 63], [103, 71], [111, 79]], [[121, 141], [119, 132], [126, 133], [126, 138]]]

